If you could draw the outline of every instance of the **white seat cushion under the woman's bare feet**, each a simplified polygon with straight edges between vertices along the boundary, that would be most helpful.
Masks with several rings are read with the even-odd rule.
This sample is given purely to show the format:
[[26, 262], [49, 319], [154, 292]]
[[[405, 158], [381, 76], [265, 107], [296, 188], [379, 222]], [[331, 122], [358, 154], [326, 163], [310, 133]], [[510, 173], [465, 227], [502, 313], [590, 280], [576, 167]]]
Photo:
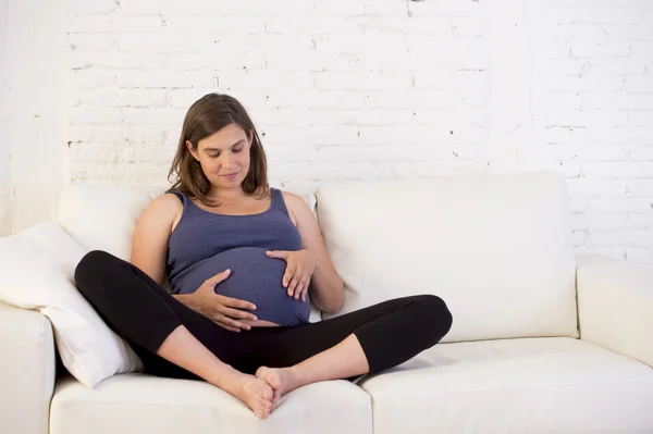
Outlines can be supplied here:
[[95, 389], [60, 380], [50, 433], [371, 434], [371, 421], [369, 395], [346, 381], [298, 388], [261, 421], [238, 399], [206, 382], [123, 374]]

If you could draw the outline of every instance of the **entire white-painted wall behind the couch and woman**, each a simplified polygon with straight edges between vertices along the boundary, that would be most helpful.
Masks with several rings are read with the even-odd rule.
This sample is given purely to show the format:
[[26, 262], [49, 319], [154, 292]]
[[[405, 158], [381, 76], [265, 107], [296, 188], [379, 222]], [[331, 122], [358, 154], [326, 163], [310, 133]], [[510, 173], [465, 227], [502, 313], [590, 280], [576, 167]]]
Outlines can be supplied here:
[[30, 53], [9, 63], [13, 231], [61, 183], [167, 185], [185, 111], [222, 91], [273, 185], [555, 170], [579, 252], [653, 265], [650, 1], [10, 0], [10, 18], [9, 58]]

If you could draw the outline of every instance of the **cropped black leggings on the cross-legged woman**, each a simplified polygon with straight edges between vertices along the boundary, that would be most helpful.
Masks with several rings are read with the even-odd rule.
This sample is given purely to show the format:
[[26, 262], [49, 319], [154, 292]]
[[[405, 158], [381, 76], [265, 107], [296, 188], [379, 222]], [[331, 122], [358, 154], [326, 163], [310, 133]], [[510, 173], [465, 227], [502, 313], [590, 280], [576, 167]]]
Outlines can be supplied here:
[[145, 372], [158, 376], [197, 379], [156, 354], [180, 325], [221, 361], [250, 374], [261, 365], [284, 368], [301, 362], [350, 334], [358, 338], [370, 373], [375, 373], [432, 347], [452, 325], [444, 301], [421, 295], [317, 323], [230, 332], [183, 305], [137, 266], [101, 250], [79, 261], [75, 281], [102, 320], [140, 357]]

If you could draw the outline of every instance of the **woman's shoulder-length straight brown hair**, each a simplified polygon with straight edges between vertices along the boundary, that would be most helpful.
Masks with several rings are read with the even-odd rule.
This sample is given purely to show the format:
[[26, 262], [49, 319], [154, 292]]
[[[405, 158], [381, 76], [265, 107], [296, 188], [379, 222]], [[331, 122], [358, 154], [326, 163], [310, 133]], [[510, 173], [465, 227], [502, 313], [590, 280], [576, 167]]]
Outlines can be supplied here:
[[201, 170], [199, 161], [195, 160], [188, 148], [186, 148], [186, 140], [190, 141], [193, 147], [197, 149], [199, 140], [230, 124], [237, 124], [248, 137], [251, 137], [249, 172], [243, 181], [243, 191], [246, 195], [258, 193], [261, 198], [268, 195], [270, 189], [268, 185], [268, 162], [256, 127], [238, 100], [229, 95], [217, 92], [207, 94], [195, 101], [186, 113], [177, 151], [168, 174], [169, 182], [172, 176], [175, 177], [171, 190], [181, 191], [188, 197], [199, 199], [208, 207], [219, 204], [207, 197], [211, 183]]

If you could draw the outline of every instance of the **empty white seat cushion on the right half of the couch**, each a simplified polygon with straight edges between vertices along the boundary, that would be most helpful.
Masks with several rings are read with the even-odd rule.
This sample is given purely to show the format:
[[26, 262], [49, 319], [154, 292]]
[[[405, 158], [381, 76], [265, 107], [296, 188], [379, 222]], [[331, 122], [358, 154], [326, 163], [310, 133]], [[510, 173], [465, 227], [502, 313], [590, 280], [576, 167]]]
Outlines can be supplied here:
[[653, 369], [571, 338], [441, 344], [360, 384], [374, 434], [653, 433]]

